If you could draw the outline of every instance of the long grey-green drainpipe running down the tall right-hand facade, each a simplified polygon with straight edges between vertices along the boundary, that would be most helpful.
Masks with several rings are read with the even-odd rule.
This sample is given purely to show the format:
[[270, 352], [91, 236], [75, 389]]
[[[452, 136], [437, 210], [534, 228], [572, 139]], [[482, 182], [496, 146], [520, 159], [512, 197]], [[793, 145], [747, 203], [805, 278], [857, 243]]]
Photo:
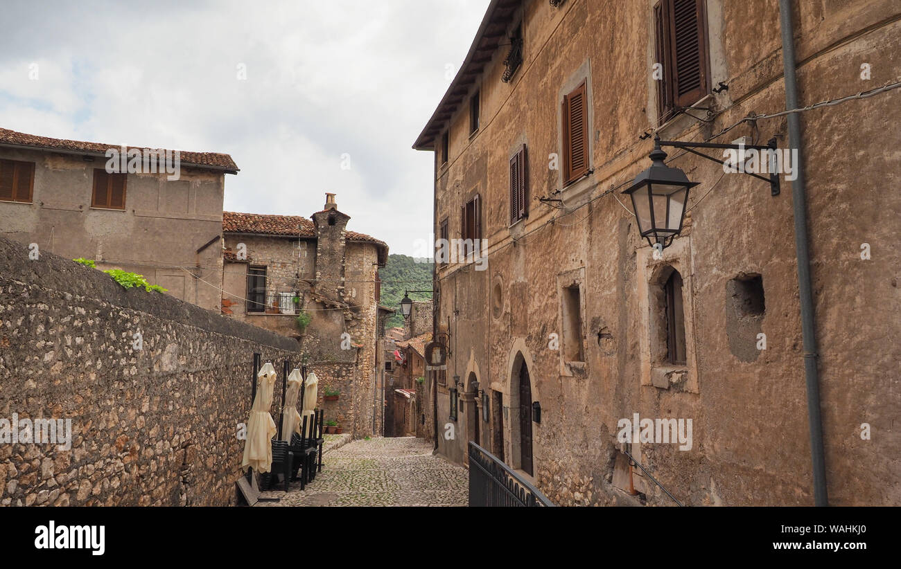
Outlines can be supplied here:
[[[791, 0], [779, 0], [779, 27], [782, 32], [782, 63], [786, 86], [786, 108], [796, 109], [797, 77], [795, 68], [795, 39], [791, 17]], [[813, 461], [814, 501], [828, 506], [826, 495], [826, 465], [823, 448], [823, 419], [820, 414], [820, 384], [816, 370], [816, 337], [814, 325], [813, 291], [810, 285], [810, 252], [807, 248], [807, 207], [805, 198], [804, 154], [799, 113], [790, 113], [788, 141], [797, 149], [797, 178], [791, 183], [792, 209], [795, 218], [795, 250], [797, 255], [797, 285], [801, 301], [801, 333], [804, 339], [804, 372], [807, 385], [807, 421], [810, 428], [810, 455]]]

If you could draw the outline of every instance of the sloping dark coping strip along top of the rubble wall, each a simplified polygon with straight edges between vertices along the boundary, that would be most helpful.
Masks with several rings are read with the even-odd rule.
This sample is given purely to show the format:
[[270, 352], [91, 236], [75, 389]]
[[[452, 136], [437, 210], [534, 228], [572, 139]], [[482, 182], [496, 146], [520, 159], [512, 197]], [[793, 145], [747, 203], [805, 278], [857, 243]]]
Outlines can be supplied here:
[[295, 352], [300, 350], [296, 339], [226, 318], [165, 293], [147, 292], [142, 288], [123, 288], [103, 271], [83, 266], [50, 252], [39, 251], [38, 258], [32, 260], [29, 258], [30, 251], [31, 249], [23, 244], [0, 235], [0, 279], [12, 279], [66, 294], [99, 298], [105, 303], [145, 312], [165, 321], [194, 326], [273, 348]]

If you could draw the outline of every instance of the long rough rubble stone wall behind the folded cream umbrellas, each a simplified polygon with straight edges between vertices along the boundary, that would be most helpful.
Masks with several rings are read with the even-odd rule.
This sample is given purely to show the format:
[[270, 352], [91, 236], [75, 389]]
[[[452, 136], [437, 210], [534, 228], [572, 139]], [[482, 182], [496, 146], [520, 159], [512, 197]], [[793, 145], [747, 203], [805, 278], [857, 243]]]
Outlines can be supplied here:
[[252, 353], [280, 377], [296, 340], [27, 253], [0, 238], [0, 430], [69, 419], [72, 445], [0, 443], [0, 504], [234, 503]]

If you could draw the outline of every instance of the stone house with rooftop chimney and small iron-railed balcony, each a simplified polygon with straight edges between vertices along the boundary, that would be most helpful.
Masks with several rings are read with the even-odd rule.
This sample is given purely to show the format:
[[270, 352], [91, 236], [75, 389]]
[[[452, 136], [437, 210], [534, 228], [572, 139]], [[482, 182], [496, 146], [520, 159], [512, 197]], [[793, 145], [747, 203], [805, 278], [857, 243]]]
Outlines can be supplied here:
[[[325, 419], [367, 437], [380, 422], [378, 267], [387, 245], [348, 230], [349, 220], [334, 194], [309, 220], [224, 212], [222, 311], [296, 338], [319, 378]], [[327, 390], [338, 400], [324, 401]]]

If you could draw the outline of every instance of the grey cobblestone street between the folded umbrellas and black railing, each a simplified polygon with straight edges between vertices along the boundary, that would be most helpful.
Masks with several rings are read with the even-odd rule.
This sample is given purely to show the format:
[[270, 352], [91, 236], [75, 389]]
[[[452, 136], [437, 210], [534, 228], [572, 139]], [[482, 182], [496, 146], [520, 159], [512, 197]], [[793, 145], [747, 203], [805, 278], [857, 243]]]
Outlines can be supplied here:
[[466, 506], [468, 473], [414, 437], [355, 440], [323, 456], [305, 491], [263, 492], [259, 506]]

